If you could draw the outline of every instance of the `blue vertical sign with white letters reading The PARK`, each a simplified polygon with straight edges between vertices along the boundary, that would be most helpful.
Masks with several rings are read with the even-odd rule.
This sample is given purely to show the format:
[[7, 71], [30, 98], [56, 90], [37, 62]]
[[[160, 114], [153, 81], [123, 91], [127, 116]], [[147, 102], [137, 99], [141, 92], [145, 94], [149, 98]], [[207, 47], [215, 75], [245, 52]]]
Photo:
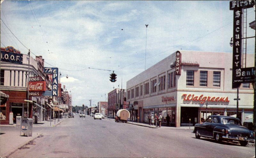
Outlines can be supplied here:
[[44, 73], [52, 74], [52, 91], [50, 92], [52, 96], [58, 96], [58, 68], [44, 67]]

